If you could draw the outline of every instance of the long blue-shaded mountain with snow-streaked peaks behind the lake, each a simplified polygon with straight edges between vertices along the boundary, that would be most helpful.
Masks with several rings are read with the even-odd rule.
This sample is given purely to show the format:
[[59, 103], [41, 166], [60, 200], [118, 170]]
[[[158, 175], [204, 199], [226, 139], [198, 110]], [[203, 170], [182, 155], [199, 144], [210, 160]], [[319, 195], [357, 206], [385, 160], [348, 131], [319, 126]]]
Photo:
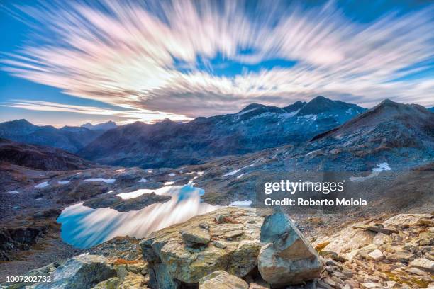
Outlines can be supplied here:
[[322, 96], [284, 108], [250, 104], [239, 113], [196, 118], [189, 123], [165, 120], [155, 125], [123, 125], [104, 133], [79, 154], [101, 164], [174, 168], [298, 144], [363, 111], [360, 106]]

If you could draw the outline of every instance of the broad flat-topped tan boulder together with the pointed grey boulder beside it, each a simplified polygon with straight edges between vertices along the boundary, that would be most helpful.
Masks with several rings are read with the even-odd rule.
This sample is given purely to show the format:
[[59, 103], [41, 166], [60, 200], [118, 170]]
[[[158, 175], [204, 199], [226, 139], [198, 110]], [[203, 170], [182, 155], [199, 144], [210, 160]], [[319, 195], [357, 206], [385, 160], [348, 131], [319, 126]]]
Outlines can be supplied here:
[[279, 288], [318, 278], [322, 268], [315, 249], [283, 213], [264, 222], [254, 210], [221, 208], [155, 232], [140, 245], [152, 288], [220, 288], [225, 279], [237, 285], [221, 288], [243, 288], [240, 278]]

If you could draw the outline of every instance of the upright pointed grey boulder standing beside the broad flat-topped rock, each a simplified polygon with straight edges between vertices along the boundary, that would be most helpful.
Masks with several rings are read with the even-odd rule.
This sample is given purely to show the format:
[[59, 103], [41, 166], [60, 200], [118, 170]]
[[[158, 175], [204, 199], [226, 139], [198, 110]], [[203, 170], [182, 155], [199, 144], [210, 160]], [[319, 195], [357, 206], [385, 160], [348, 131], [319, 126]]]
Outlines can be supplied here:
[[276, 212], [265, 218], [260, 234], [262, 246], [258, 269], [273, 288], [318, 278], [322, 265], [318, 254], [287, 215]]

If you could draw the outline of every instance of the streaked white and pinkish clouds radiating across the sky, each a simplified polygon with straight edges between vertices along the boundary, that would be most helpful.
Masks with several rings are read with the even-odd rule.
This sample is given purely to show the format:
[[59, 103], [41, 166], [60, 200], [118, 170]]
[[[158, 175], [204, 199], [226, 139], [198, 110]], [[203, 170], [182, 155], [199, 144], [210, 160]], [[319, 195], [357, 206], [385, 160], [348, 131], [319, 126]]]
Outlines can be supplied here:
[[[432, 77], [393, 81], [433, 59], [433, 6], [356, 23], [333, 3], [303, 9], [264, 1], [249, 13], [240, 1], [101, 3], [104, 13], [96, 4], [22, 8], [36, 19], [31, 26], [50, 38], [8, 57], [4, 69], [135, 116], [213, 115], [246, 103], [285, 105], [320, 94], [347, 96], [344, 101], [362, 106], [384, 98], [433, 104]], [[245, 48], [253, 53], [240, 53]], [[244, 64], [281, 58], [296, 65], [235, 77], [194, 68], [198, 57], [209, 62], [216, 55]], [[177, 60], [193, 69], [180, 72]]]

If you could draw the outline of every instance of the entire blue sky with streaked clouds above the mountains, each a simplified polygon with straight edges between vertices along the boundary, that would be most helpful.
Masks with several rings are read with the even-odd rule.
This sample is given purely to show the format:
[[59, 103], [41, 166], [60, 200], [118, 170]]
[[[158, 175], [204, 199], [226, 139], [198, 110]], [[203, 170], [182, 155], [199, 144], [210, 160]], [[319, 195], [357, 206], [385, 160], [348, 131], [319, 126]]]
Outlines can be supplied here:
[[430, 1], [7, 1], [0, 121], [188, 120], [323, 95], [434, 106]]

